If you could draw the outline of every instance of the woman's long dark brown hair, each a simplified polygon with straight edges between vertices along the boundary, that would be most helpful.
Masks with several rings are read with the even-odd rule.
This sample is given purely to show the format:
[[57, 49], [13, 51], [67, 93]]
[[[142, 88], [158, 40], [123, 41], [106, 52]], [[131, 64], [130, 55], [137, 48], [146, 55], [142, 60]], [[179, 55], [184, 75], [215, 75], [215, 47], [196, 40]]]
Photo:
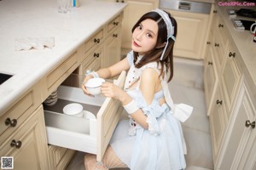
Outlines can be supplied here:
[[[166, 11], [165, 11], [166, 12]], [[169, 15], [171, 21], [172, 21], [172, 26], [174, 26], [174, 37], [177, 36], [177, 22], [176, 20], [171, 16], [171, 14], [167, 13]], [[166, 30], [166, 23], [160, 16], [160, 14], [151, 11], [146, 14], [143, 14], [143, 16], [140, 18], [140, 20], [137, 21], [137, 23], [132, 27], [131, 31], [133, 32], [137, 26], [139, 26], [143, 20], [154, 20], [158, 24], [158, 35], [157, 35], [157, 41], [154, 49], [149, 52], [148, 54], [145, 54], [143, 59], [140, 60], [136, 64], [138, 53], [133, 52], [134, 56], [134, 65], [137, 68], [141, 68], [143, 65], [146, 65], [150, 62], [157, 62], [158, 65], [161, 65], [161, 70], [160, 70], [160, 76], [163, 75], [164, 68], [166, 67], [166, 72], [170, 71], [170, 77], [168, 78], [168, 82], [172, 80], [173, 77], [173, 46], [174, 46], [174, 41], [172, 38], [169, 38], [169, 43], [168, 47], [166, 48], [166, 53], [164, 54], [164, 57], [162, 60], [160, 60], [160, 56], [164, 50], [165, 47], [158, 48], [161, 44], [167, 42], [167, 30]]]

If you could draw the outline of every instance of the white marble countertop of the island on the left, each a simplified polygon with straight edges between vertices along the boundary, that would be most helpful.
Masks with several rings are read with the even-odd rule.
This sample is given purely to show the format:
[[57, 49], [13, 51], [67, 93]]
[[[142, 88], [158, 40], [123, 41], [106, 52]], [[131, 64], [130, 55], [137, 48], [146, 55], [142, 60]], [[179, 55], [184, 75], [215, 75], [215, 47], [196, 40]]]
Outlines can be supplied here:
[[[80, 0], [79, 8], [61, 14], [57, 0], [0, 1], [0, 72], [14, 75], [0, 85], [0, 113], [125, 5]], [[54, 37], [55, 47], [15, 51], [15, 39], [25, 37]]]

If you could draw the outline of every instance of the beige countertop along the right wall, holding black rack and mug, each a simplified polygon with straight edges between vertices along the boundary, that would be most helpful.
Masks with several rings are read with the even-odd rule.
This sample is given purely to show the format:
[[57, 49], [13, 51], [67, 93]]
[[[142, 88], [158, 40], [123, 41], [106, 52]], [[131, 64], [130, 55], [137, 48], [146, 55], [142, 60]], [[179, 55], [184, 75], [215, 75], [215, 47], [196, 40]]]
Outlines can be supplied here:
[[[256, 3], [255, 3], [256, 5]], [[233, 25], [230, 16], [227, 14], [227, 9], [239, 9], [239, 8], [253, 8], [253, 7], [238, 7], [238, 6], [218, 6], [217, 10], [220, 11], [223, 16], [223, 20], [227, 29], [229, 30], [230, 37], [233, 39], [233, 42], [236, 44], [236, 48], [241, 54], [241, 58], [237, 59], [238, 65], [241, 66], [242, 71], [245, 73], [245, 77], [249, 79], [248, 81], [252, 82], [253, 88], [256, 89], [256, 42], [253, 42], [253, 34], [247, 30], [236, 30]], [[240, 20], [253, 20], [249, 18], [236, 16]]]

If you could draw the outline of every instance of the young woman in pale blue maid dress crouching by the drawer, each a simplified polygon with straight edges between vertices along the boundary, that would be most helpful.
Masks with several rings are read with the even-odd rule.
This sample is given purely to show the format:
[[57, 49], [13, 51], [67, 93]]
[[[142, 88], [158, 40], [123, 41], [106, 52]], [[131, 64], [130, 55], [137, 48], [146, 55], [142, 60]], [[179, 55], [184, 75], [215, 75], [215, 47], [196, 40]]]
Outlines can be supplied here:
[[[131, 52], [109, 68], [84, 78], [110, 78], [128, 71], [125, 87], [102, 84], [102, 94], [119, 99], [130, 116], [116, 127], [102, 162], [84, 157], [86, 170], [129, 167], [131, 170], [178, 170], [186, 167], [186, 147], [180, 122], [192, 107], [174, 105], [167, 82], [173, 77], [173, 45], [177, 23], [171, 14], [155, 9], [144, 14], [132, 28]], [[84, 94], [88, 91], [82, 87]]]

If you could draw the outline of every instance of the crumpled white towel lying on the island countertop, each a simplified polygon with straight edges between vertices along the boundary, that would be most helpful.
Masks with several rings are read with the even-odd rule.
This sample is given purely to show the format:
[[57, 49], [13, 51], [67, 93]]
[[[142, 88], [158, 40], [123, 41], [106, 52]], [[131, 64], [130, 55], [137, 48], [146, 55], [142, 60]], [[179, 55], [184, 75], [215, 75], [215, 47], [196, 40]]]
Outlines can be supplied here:
[[53, 48], [55, 46], [54, 37], [24, 37], [15, 39], [15, 51]]

